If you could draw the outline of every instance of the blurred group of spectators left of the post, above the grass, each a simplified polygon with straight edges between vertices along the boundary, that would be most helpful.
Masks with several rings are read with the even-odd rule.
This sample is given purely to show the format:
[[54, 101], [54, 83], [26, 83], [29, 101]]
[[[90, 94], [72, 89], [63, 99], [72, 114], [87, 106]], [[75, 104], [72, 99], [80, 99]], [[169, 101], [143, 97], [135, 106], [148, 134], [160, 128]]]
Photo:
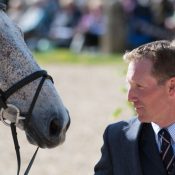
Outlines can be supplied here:
[[74, 0], [11, 0], [8, 14], [24, 32], [30, 49], [81, 51], [85, 45], [98, 47], [104, 34], [102, 4], [95, 1], [82, 5]]

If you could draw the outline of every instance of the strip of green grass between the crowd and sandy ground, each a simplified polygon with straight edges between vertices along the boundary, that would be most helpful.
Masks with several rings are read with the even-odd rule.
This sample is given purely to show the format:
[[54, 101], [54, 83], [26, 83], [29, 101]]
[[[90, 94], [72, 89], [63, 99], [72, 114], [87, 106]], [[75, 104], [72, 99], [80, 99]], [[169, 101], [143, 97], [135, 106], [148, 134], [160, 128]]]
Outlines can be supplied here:
[[83, 52], [76, 54], [66, 49], [55, 49], [47, 52], [34, 52], [34, 57], [41, 64], [119, 64], [122, 63], [121, 54], [102, 54]]

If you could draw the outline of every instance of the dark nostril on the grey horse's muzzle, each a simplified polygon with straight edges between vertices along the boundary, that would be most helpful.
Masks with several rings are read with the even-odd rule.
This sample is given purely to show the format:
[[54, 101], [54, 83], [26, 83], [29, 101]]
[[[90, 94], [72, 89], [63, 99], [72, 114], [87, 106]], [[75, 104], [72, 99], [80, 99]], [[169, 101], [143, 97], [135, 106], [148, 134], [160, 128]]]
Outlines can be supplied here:
[[50, 122], [49, 135], [50, 137], [57, 137], [61, 131], [61, 125], [58, 119], [53, 119]]

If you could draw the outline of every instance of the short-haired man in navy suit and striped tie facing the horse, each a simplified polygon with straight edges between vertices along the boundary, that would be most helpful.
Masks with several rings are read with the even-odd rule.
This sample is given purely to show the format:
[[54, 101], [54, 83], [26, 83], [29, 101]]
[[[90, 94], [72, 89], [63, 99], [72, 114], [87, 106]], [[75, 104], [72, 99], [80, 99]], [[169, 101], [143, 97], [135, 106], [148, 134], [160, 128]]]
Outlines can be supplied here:
[[138, 116], [107, 127], [95, 175], [175, 175], [175, 45], [145, 44], [124, 60]]

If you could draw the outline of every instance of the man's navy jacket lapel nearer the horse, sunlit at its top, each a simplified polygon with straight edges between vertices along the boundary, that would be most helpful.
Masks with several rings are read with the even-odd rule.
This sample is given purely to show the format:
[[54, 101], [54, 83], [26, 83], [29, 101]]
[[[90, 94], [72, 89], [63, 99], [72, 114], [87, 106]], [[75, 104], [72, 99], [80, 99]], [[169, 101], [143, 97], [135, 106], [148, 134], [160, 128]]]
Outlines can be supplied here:
[[124, 155], [127, 155], [126, 164], [129, 167], [130, 174], [142, 175], [139, 160], [138, 135], [141, 123], [138, 119], [132, 120], [127, 128], [124, 129], [123, 141], [125, 147]]

